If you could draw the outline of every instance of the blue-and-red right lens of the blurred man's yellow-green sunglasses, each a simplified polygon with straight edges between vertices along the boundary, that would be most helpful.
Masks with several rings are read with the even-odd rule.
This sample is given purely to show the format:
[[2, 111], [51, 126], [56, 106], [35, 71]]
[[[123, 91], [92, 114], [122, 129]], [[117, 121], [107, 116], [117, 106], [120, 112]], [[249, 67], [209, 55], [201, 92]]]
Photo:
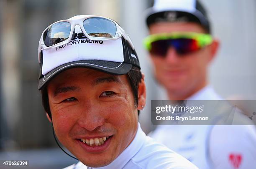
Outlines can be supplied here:
[[172, 46], [179, 54], [188, 54], [200, 49], [197, 41], [194, 39], [180, 38], [172, 40]]

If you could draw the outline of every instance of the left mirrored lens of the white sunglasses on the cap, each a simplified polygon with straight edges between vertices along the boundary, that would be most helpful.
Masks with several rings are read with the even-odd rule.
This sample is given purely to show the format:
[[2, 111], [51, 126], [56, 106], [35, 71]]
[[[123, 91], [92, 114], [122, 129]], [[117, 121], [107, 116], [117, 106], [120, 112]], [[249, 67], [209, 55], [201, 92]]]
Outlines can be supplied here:
[[44, 32], [44, 44], [52, 46], [57, 43], [63, 42], [69, 38], [71, 24], [69, 22], [59, 22], [51, 25]]

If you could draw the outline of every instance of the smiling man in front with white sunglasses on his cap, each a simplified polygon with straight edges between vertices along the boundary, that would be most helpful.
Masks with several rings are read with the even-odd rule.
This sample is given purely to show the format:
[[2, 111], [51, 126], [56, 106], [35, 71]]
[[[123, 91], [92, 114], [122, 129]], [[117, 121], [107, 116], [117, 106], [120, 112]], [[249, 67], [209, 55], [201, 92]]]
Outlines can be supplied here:
[[80, 15], [53, 23], [38, 61], [46, 116], [79, 159], [68, 168], [197, 168], [141, 130], [144, 78], [133, 43], [113, 20]]

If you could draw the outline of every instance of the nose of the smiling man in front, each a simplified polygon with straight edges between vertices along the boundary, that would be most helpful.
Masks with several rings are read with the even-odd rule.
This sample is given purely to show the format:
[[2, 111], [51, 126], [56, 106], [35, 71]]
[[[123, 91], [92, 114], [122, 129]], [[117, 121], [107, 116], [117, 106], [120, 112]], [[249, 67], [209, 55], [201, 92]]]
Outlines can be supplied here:
[[80, 116], [77, 121], [79, 126], [87, 129], [88, 131], [93, 131], [104, 124], [108, 113], [103, 112], [100, 106], [95, 104], [93, 105], [92, 103], [86, 103], [79, 115]]

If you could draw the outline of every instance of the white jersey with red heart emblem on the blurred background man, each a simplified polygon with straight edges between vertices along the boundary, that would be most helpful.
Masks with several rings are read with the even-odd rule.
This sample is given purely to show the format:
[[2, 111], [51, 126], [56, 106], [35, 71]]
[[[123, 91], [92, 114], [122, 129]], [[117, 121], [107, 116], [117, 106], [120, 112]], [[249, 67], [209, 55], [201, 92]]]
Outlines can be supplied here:
[[[223, 99], [206, 86], [187, 100]], [[256, 166], [255, 126], [158, 126], [149, 136], [200, 169], [252, 169]]]

